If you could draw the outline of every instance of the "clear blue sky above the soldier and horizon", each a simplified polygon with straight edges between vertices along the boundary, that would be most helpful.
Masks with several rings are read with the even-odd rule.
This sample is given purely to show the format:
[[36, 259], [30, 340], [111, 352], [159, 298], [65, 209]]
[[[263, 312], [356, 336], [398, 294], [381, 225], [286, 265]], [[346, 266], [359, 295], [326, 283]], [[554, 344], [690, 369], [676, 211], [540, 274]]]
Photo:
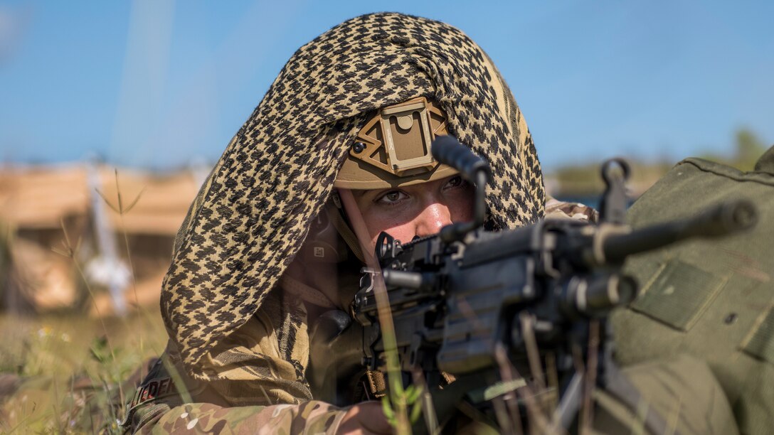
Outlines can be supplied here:
[[774, 2], [0, 0], [0, 163], [211, 162], [293, 52], [392, 10], [495, 60], [547, 169], [774, 143]]

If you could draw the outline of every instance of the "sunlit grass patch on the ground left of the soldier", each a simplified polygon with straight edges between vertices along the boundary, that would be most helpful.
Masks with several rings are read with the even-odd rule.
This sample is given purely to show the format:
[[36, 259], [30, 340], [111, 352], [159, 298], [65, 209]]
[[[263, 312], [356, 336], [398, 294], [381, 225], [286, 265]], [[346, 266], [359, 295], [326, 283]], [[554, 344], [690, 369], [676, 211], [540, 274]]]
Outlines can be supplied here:
[[122, 403], [133, 394], [121, 382], [166, 345], [159, 313], [134, 313], [0, 317], [0, 374], [21, 379], [0, 404], [0, 433], [118, 431]]

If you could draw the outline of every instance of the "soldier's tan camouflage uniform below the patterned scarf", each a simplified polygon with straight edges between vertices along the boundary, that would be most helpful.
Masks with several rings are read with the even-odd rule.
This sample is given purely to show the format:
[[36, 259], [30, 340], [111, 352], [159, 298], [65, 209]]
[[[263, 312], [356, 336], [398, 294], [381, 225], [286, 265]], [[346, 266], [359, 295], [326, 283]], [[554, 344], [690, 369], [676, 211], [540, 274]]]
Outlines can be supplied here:
[[[299, 327], [288, 321], [292, 317], [303, 317]], [[303, 378], [309, 358], [306, 325], [303, 303], [282, 289], [271, 292], [255, 316], [222, 344], [218, 358], [225, 364], [217, 381], [187, 375], [170, 341], [136, 390], [125, 424], [142, 433], [334, 433], [344, 412], [312, 400]]]

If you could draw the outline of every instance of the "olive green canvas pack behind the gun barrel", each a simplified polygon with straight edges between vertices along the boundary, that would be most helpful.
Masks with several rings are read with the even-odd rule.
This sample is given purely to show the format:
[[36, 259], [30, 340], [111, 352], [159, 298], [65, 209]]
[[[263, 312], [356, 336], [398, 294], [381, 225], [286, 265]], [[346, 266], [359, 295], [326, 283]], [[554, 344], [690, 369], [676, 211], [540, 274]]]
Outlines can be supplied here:
[[[690, 382], [644, 382], [643, 396], [656, 408], [674, 403], [675, 396], [685, 404], [700, 396], [703, 385], [718, 384], [730, 408], [726, 420], [735, 420], [740, 433], [774, 433], [774, 147], [748, 173], [683, 160], [632, 205], [628, 221], [639, 228], [737, 198], [758, 208], [752, 231], [684, 242], [628, 262], [627, 272], [641, 290], [612, 317], [616, 358], [624, 366], [680, 354], [697, 358], [710, 370], [692, 372]], [[659, 384], [669, 392], [652, 391]], [[710, 421], [709, 409], [694, 411], [687, 420]], [[724, 423], [713, 421], [702, 426], [704, 433], [724, 433]], [[678, 430], [696, 433], [686, 426]]]

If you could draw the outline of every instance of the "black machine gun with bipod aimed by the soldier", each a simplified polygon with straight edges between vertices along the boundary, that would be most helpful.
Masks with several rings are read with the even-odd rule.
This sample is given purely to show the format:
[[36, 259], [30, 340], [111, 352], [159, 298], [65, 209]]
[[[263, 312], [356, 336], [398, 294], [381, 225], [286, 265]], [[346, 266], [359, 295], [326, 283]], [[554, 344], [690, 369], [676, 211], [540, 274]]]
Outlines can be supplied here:
[[[498, 379], [498, 352], [505, 352], [519, 374], [535, 375], [536, 362], [529, 354], [537, 348], [540, 355], [555, 359], [557, 415], [565, 428], [580, 409], [584, 374], [574, 364], [578, 351], [584, 358], [596, 358], [594, 382], [603, 387], [605, 371], [614, 368], [605, 320], [637, 292], [635, 281], [621, 272], [626, 257], [755, 224], [755, 208], [738, 200], [685, 221], [632, 231], [624, 224], [628, 165], [613, 159], [602, 166], [607, 188], [600, 224], [546, 219], [509, 231], [484, 231], [488, 164], [450, 136], [436, 139], [432, 152], [474, 183], [474, 221], [451, 224], [438, 235], [408, 243], [379, 235], [381, 270], [364, 269], [352, 306], [354, 320], [363, 327], [362, 365], [372, 371], [385, 368], [374, 293], [375, 281], [383, 279], [406, 382], [416, 372], [423, 373], [426, 385], [443, 383], [442, 373], [480, 377], [481, 388], [466, 392], [467, 401], [480, 406], [492, 394], [502, 394], [502, 389], [485, 388], [493, 379], [503, 381]], [[339, 320], [332, 340], [347, 322]], [[592, 324], [600, 332], [598, 346], [590, 348], [597, 331]]]

